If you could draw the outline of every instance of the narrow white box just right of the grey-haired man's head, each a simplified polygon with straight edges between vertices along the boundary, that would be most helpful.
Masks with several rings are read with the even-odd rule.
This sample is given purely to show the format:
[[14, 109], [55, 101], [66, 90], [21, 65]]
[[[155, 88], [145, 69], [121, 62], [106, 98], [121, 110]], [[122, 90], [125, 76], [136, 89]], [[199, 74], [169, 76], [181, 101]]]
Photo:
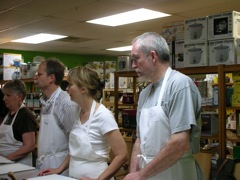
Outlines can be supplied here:
[[184, 40], [175, 41], [175, 56], [174, 56], [175, 68], [184, 67], [183, 48]]

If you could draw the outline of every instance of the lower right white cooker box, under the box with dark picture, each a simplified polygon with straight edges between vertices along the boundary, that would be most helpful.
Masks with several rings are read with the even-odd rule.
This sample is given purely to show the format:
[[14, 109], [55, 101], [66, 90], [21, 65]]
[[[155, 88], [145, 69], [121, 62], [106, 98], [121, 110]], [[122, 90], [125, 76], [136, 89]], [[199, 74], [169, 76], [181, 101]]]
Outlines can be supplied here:
[[209, 65], [236, 64], [236, 39], [209, 41]]

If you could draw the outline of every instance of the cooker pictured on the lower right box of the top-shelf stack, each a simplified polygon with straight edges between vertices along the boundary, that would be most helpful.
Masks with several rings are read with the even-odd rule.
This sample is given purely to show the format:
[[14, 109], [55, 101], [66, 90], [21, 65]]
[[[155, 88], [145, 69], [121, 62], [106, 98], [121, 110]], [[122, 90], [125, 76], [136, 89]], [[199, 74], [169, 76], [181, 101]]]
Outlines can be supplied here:
[[214, 54], [216, 62], [226, 62], [229, 58], [229, 47], [228, 46], [217, 46], [214, 47]]

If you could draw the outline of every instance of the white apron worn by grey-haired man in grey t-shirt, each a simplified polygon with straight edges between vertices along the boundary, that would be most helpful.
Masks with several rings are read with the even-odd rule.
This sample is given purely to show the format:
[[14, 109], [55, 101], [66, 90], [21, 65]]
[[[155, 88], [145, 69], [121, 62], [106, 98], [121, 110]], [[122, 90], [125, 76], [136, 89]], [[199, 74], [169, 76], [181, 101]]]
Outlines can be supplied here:
[[[169, 67], [165, 73], [158, 104], [151, 108], [144, 108], [144, 104], [141, 111], [139, 127], [142, 154], [138, 155], [140, 168], [144, 168], [157, 156], [171, 136], [169, 120], [161, 107], [162, 96], [171, 71]], [[195, 160], [192, 153], [188, 152], [172, 167], [148, 180], [197, 180], [196, 174]]]

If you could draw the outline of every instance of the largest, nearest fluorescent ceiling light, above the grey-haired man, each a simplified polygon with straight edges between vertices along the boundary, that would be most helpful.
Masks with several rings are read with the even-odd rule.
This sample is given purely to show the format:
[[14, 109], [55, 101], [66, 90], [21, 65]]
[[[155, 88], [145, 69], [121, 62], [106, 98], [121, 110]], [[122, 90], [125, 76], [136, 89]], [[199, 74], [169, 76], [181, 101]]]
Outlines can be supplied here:
[[120, 26], [124, 24], [131, 24], [134, 22], [146, 21], [166, 16], [170, 16], [170, 14], [141, 8], [99, 19], [93, 19], [87, 22], [106, 26]]

